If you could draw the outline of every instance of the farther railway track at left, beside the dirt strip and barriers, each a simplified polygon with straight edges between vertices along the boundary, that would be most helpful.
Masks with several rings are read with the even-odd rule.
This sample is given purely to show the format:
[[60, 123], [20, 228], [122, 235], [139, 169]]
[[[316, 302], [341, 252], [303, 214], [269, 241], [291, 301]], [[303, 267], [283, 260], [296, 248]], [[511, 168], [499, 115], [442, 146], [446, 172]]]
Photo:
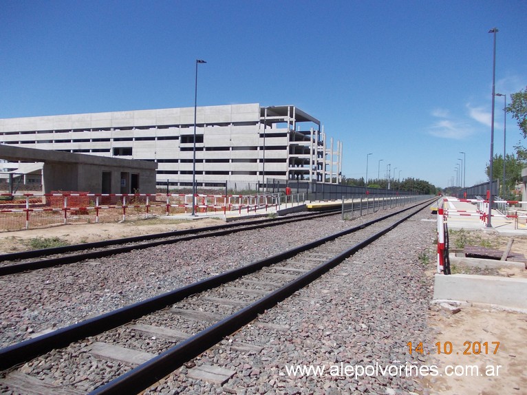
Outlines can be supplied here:
[[258, 228], [290, 224], [291, 222], [314, 220], [335, 215], [339, 212], [340, 210], [333, 210], [325, 211], [324, 213], [294, 215], [292, 217], [251, 220], [241, 223], [208, 226], [205, 228], [186, 229], [184, 231], [156, 233], [153, 235], [125, 237], [122, 239], [111, 239], [102, 242], [74, 244], [71, 246], [3, 254], [0, 255], [0, 276], [21, 273], [27, 270], [39, 270], [54, 266], [74, 264], [88, 259], [98, 259], [109, 255], [128, 253], [131, 250], [151, 248], [186, 240], [217, 237]]

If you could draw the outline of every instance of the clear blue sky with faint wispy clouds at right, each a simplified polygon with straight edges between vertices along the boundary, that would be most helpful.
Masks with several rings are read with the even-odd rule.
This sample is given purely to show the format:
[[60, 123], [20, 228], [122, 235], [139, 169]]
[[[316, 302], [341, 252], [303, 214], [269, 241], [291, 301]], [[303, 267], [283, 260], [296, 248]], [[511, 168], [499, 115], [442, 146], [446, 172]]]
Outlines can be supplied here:
[[[0, 118], [296, 105], [348, 178], [486, 181], [496, 92], [527, 85], [527, 1], [0, 1]], [[503, 103], [495, 144], [503, 153]], [[508, 153], [520, 140], [506, 123]], [[379, 160], [380, 171], [379, 171]], [[399, 173], [400, 171], [400, 173]]]

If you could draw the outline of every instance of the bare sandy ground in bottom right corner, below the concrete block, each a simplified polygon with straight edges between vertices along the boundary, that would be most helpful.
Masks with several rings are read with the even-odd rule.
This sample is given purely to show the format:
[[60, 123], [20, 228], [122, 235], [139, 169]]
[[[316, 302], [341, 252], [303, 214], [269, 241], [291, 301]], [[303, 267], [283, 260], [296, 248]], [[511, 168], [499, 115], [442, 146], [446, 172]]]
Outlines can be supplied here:
[[[527, 394], [527, 314], [486, 306], [462, 307], [457, 314], [432, 310], [429, 325], [436, 336], [425, 350], [443, 374], [424, 379], [430, 394]], [[460, 376], [446, 376], [451, 372]]]

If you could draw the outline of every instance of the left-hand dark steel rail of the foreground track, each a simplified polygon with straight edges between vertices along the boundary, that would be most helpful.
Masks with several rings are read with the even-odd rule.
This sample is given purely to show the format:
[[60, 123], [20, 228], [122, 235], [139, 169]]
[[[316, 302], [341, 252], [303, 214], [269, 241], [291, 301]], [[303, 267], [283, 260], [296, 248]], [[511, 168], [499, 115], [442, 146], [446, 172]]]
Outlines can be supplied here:
[[98, 317], [87, 319], [74, 325], [69, 325], [65, 328], [55, 330], [54, 332], [43, 334], [39, 337], [35, 337], [34, 339], [29, 339], [22, 341], [21, 343], [10, 345], [0, 350], [0, 370], [6, 370], [20, 363], [24, 363], [25, 361], [36, 358], [36, 356], [44, 354], [45, 352], [50, 352], [53, 349], [65, 347], [74, 341], [79, 341], [80, 339], [85, 339], [86, 337], [94, 336], [107, 330], [117, 328], [118, 326], [124, 325], [133, 319], [138, 319], [145, 314], [162, 310], [166, 306], [170, 306], [171, 304], [194, 295], [195, 293], [216, 288], [217, 286], [225, 284], [229, 281], [239, 279], [244, 275], [255, 273], [261, 268], [293, 257], [298, 253], [301, 253], [305, 250], [310, 250], [343, 235], [347, 235], [349, 233], [366, 228], [367, 226], [386, 220], [387, 218], [393, 217], [394, 215], [409, 211], [414, 207], [420, 206], [421, 204], [423, 203], [410, 206], [394, 213], [389, 213], [388, 215], [384, 215], [383, 217], [379, 217], [375, 220], [365, 222], [359, 226], [354, 226], [353, 228], [323, 237], [321, 239], [315, 240], [314, 242], [303, 244], [302, 246], [292, 248], [273, 257], [261, 259], [260, 261], [248, 264], [247, 266], [229, 270], [228, 272], [209, 277], [208, 279], [204, 279], [202, 281], [197, 281], [193, 284], [189, 284], [188, 286], [184, 286], [170, 292], [165, 292], [164, 294], [145, 299], [144, 301], [140, 301], [138, 303], [133, 303], [130, 306], [125, 306], [118, 310], [102, 314]]

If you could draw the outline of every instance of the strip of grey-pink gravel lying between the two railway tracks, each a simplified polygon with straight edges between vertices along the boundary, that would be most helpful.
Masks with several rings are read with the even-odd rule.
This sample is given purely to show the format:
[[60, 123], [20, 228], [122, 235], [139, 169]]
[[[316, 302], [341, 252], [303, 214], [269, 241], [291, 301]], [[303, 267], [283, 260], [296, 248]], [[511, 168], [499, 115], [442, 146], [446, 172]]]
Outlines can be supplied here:
[[0, 278], [0, 347], [62, 328], [356, 226], [340, 215], [180, 242]]

